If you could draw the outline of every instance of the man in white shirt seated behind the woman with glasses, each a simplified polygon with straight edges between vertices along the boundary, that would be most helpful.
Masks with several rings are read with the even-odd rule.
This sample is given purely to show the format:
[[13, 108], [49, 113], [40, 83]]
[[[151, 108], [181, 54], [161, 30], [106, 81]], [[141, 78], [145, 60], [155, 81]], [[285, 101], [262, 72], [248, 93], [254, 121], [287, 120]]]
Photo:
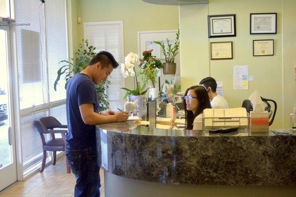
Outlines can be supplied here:
[[217, 95], [217, 82], [213, 77], [206, 77], [202, 79], [199, 85], [203, 86], [209, 95], [212, 108], [225, 109], [229, 108], [227, 101], [220, 95]]

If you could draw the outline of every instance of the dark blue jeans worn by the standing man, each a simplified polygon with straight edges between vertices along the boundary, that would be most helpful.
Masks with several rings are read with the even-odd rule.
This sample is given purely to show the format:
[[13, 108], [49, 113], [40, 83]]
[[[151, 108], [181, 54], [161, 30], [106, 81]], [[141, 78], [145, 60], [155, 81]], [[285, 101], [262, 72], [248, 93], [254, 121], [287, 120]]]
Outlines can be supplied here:
[[75, 175], [75, 197], [100, 197], [100, 167], [96, 148], [71, 150], [65, 148], [70, 168]]

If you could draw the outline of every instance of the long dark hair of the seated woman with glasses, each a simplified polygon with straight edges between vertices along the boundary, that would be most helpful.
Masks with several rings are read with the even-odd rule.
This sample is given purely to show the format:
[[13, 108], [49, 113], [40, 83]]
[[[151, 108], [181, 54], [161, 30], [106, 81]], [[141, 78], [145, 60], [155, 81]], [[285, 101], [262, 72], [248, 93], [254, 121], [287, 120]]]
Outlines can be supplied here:
[[194, 118], [196, 118], [196, 116], [198, 116], [198, 114], [202, 113], [204, 109], [206, 108], [212, 108], [211, 107], [211, 103], [210, 103], [210, 99], [208, 96], [208, 93], [206, 91], [206, 89], [203, 86], [192, 86], [190, 88], [188, 88], [185, 92], [185, 96], [187, 96], [187, 93], [189, 90], [194, 90], [196, 97], [198, 99], [199, 102], [199, 107], [196, 110], [195, 114], [193, 114], [192, 111], [188, 111], [186, 109], [186, 100], [183, 100], [184, 103], [184, 110], [185, 110], [185, 124], [186, 124], [186, 129], [187, 130], [192, 130], [193, 129], [193, 121]]

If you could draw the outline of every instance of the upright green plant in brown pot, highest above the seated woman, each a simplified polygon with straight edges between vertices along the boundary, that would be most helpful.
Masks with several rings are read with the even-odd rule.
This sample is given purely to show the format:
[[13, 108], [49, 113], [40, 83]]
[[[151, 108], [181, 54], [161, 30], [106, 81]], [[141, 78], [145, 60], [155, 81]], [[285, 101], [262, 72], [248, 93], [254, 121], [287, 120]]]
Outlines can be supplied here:
[[178, 54], [180, 46], [180, 31], [176, 33], [176, 39], [174, 45], [170, 43], [170, 40], [166, 38], [167, 48], [162, 41], [154, 41], [155, 44], [159, 44], [162, 50], [162, 54], [165, 57], [165, 63], [163, 63], [163, 74], [175, 75], [176, 74], [176, 63], [175, 57]]

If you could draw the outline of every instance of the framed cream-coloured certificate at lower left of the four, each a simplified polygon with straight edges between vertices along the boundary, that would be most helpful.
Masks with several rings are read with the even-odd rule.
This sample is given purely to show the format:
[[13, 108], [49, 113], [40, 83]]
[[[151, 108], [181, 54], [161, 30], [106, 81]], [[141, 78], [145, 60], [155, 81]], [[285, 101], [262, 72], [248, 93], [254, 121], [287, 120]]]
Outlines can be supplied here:
[[232, 59], [232, 42], [211, 42], [211, 60]]

